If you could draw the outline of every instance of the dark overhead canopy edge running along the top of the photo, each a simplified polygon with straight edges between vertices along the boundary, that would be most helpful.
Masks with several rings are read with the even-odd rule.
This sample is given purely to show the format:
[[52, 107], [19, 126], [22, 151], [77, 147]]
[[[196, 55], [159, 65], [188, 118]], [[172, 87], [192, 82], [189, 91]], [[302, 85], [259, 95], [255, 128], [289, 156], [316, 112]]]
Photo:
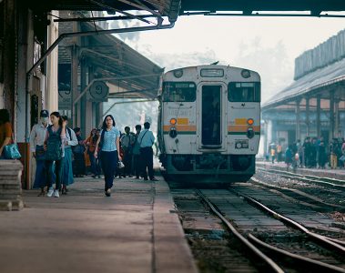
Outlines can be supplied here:
[[[34, 10], [98, 10], [124, 12], [129, 10], [146, 10], [158, 16], [167, 16], [175, 22], [178, 15], [204, 14], [217, 15], [218, 12], [240, 12], [240, 15], [258, 15], [258, 13], [275, 12], [309, 12], [319, 16], [327, 12], [345, 11], [343, 0], [20, 0]], [[277, 13], [278, 12], [278, 13]]]

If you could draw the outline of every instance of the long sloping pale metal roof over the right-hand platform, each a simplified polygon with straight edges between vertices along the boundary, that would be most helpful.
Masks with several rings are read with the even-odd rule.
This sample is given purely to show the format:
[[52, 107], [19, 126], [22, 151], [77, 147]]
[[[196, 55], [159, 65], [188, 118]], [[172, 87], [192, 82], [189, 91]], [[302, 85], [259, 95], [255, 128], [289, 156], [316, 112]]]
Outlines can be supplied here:
[[[287, 103], [297, 96], [305, 95], [320, 87], [331, 86], [340, 82], [345, 83], [345, 58], [299, 78], [279, 92], [279, 94], [272, 96], [268, 102], [262, 105], [262, 108], [268, 109], [271, 106]], [[342, 93], [339, 95], [344, 100], [345, 92]]]

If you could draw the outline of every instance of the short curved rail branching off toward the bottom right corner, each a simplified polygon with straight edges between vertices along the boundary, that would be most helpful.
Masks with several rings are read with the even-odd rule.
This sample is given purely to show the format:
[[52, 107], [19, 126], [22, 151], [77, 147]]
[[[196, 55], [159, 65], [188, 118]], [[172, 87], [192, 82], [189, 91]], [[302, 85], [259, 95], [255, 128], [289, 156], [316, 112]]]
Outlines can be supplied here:
[[248, 238], [250, 241], [254, 242], [256, 245], [259, 245], [261, 248], [266, 248], [266, 249], [269, 249], [270, 251], [274, 251], [275, 253], [278, 253], [279, 255], [292, 258], [292, 259], [297, 260], [299, 262], [303, 262], [304, 264], [308, 265], [309, 267], [310, 266], [318, 267], [315, 269], [324, 270], [322, 272], [342, 272], [342, 273], [345, 273], [345, 269], [343, 269], [343, 268], [332, 266], [330, 264], [327, 264], [327, 263], [324, 263], [324, 262], [321, 262], [319, 260], [315, 260], [312, 258], [306, 258], [306, 257], [300, 256], [300, 255], [291, 253], [291, 252], [284, 250], [284, 249], [273, 247], [273, 246], [261, 241], [259, 238], [256, 238], [255, 236], [253, 236], [250, 233], [248, 235]]

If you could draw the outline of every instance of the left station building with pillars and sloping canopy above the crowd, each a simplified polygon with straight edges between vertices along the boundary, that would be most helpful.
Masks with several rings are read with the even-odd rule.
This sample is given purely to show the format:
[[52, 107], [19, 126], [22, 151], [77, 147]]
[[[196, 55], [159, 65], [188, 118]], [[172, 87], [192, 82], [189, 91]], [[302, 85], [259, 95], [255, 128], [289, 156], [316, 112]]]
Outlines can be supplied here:
[[[179, 1], [152, 0], [136, 7], [106, 2], [0, 1], [0, 108], [10, 113], [25, 188], [31, 187], [35, 169], [28, 138], [41, 109], [60, 110], [71, 117], [71, 127], [79, 126], [85, 134], [103, 118], [108, 96], [157, 94], [163, 70], [112, 34], [171, 28]], [[127, 11], [140, 8], [152, 12], [157, 25], [107, 29], [104, 21], [90, 19], [115, 10], [133, 19]], [[62, 18], [66, 22], [59, 22]]]

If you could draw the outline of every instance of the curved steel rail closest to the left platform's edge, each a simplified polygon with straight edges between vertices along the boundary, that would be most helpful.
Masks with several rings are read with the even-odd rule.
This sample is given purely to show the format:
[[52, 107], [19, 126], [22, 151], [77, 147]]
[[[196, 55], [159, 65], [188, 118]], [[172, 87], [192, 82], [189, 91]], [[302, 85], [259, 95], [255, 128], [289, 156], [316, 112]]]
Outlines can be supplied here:
[[231, 225], [231, 223], [228, 221], [228, 219], [226, 217], [223, 217], [218, 210], [216, 209], [216, 207], [214, 207], [214, 205], [208, 200], [208, 197], [205, 197], [205, 195], [199, 191], [197, 189], [197, 194], [199, 197], [201, 197], [207, 204], [208, 207], [210, 207], [210, 209], [213, 211], [213, 213], [215, 213], [220, 219], [221, 221], [228, 227], [228, 229], [232, 232], [232, 234], [238, 238], [247, 248], [249, 248], [256, 256], [258, 256], [259, 258], [261, 258], [261, 260], [263, 260], [267, 265], [269, 265], [270, 268], [272, 268], [272, 270], [274, 272], [284, 272], [284, 270], [282, 268], [279, 267], [279, 265], [277, 265], [271, 258], [267, 257], [264, 253], [262, 253], [257, 247], [255, 247], [253, 244], [251, 244], [249, 242], [249, 240], [247, 238], [244, 238], [239, 232], [238, 230], [233, 227]]

